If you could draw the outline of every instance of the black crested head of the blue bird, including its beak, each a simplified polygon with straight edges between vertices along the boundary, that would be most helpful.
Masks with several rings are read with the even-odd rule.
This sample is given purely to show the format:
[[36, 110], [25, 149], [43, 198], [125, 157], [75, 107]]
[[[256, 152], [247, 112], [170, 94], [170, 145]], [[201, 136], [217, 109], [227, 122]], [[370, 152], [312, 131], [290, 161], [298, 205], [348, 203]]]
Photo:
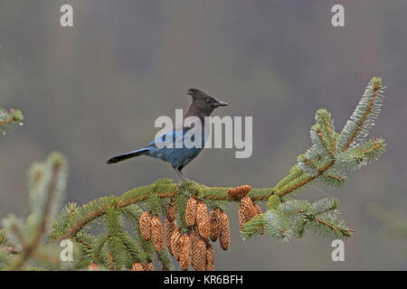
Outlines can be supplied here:
[[186, 94], [193, 98], [191, 107], [185, 114], [185, 117], [209, 117], [216, 107], [226, 107], [229, 104], [216, 100], [201, 89], [188, 89]]

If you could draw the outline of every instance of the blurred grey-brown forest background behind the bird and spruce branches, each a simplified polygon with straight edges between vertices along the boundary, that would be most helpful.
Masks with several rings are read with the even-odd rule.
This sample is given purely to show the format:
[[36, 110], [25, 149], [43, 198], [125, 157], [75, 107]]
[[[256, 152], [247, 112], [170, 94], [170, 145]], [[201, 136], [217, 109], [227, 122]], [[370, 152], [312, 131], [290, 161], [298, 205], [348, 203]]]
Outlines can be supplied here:
[[[60, 25], [73, 6], [74, 26]], [[331, 7], [345, 6], [345, 27]], [[272, 187], [310, 145], [317, 108], [340, 131], [373, 76], [383, 77], [382, 115], [371, 136], [388, 151], [350, 174], [345, 188], [316, 184], [298, 198], [341, 200], [355, 229], [345, 262], [331, 241], [308, 234], [280, 244], [241, 240], [230, 208], [232, 246], [215, 246], [219, 270], [407, 269], [406, 238], [387, 233], [385, 208], [407, 221], [407, 2], [400, 1], [0, 1], [0, 106], [19, 108], [24, 126], [0, 136], [0, 218], [28, 213], [26, 171], [51, 151], [66, 154], [67, 200], [99, 196], [169, 177], [171, 166], [140, 157], [106, 160], [147, 144], [159, 116], [186, 108], [189, 87], [230, 107], [219, 116], [253, 117], [253, 154], [211, 149], [184, 170], [208, 186]], [[264, 208], [264, 207], [263, 207]], [[389, 211], [387, 211], [389, 212]], [[402, 219], [404, 218], [404, 219]]]

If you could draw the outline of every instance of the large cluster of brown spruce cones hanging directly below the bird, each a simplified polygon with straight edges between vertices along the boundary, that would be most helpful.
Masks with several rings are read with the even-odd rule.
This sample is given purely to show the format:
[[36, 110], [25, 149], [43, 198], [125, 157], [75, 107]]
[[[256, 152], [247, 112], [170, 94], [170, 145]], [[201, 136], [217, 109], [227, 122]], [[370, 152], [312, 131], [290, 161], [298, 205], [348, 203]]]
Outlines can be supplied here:
[[[185, 223], [191, 228], [182, 234], [176, 225], [175, 208], [169, 204], [164, 221], [164, 238], [170, 254], [179, 261], [182, 270], [193, 266], [196, 271], [214, 270], [214, 251], [209, 238], [219, 243], [227, 250], [231, 245], [231, 234], [228, 216], [219, 208], [208, 215], [203, 200], [193, 196], [185, 208]], [[145, 211], [139, 220], [142, 238], [152, 240], [153, 246], [159, 252], [164, 247], [163, 229], [157, 216], [150, 218], [150, 212]], [[142, 266], [139, 266], [141, 269]]]

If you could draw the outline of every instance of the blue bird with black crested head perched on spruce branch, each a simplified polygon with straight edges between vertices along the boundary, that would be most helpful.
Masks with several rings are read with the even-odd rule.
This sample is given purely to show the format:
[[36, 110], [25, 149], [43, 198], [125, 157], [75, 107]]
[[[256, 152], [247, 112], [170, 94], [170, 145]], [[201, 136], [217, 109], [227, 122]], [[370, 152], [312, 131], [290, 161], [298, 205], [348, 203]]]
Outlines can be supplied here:
[[[169, 130], [162, 135], [157, 136], [151, 143], [147, 144], [145, 147], [129, 152], [127, 154], [114, 156], [110, 158], [107, 163], [118, 163], [133, 157], [137, 157], [139, 155], [147, 155], [170, 163], [183, 183], [186, 182], [187, 179], [182, 173], [183, 168], [185, 168], [185, 165], [194, 160], [194, 158], [199, 153], [201, 153], [204, 148], [204, 143], [206, 140], [204, 137], [204, 130], [205, 128], [207, 128], [204, 125], [205, 117], [210, 117], [215, 108], [226, 107], [229, 105], [227, 102], [216, 100], [201, 89], [187, 89], [186, 94], [191, 96], [192, 103], [185, 113], [183, 124], [181, 124], [181, 126], [180, 124], [175, 124], [172, 130]], [[202, 145], [195, 145], [194, 147], [190, 147], [185, 146], [184, 143], [182, 143], [181, 146], [177, 146], [175, 144], [176, 142], [183, 142], [186, 135], [193, 135], [191, 136], [191, 141], [194, 141], [194, 129], [197, 129], [197, 126], [194, 126], [194, 124], [192, 124], [191, 126], [185, 126], [184, 121], [187, 117], [199, 118], [202, 125], [202, 127], [200, 128], [203, 136]], [[197, 141], [199, 142], [199, 139], [197, 139]], [[166, 145], [170, 143], [173, 143], [175, 145]]]

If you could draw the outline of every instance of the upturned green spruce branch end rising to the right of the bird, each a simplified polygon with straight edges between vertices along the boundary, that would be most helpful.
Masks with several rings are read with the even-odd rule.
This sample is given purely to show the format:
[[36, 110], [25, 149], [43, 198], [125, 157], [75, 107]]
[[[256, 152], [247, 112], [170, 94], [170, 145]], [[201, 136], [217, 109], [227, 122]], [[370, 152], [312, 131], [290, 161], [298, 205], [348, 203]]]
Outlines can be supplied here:
[[[276, 193], [279, 196], [288, 194], [316, 179], [342, 186], [346, 179], [343, 171], [354, 170], [352, 157], [356, 160], [353, 163], [357, 162], [356, 166], [360, 168], [383, 154], [385, 149], [383, 139], [370, 142], [370, 147], [369, 144], [362, 144], [368, 135], [368, 130], [374, 126], [374, 120], [380, 114], [380, 107], [383, 105], [383, 89], [382, 79], [374, 77], [370, 80], [364, 90], [364, 96], [340, 135], [336, 134], [333, 120], [327, 110], [317, 110], [317, 124], [311, 128], [313, 146], [306, 154], [298, 156], [298, 166], [294, 166], [289, 176], [279, 182], [275, 188]], [[352, 149], [361, 144], [364, 146], [362, 149], [348, 152], [349, 148]], [[348, 156], [347, 159], [345, 156]], [[340, 161], [336, 162], [338, 159]], [[336, 170], [330, 170], [331, 167]]]

